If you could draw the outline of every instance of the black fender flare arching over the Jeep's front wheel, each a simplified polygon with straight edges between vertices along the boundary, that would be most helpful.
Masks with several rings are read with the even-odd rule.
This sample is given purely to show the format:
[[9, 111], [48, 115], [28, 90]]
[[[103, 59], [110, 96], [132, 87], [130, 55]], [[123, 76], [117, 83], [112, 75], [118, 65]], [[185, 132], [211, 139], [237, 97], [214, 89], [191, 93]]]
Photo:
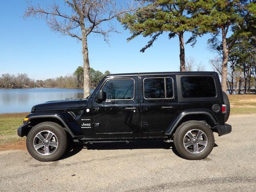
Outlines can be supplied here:
[[84, 136], [81, 128], [78, 126], [74, 118], [72, 118], [72, 116], [66, 112], [53, 112], [47, 114], [31, 113], [26, 117], [29, 118], [29, 120], [24, 124], [28, 124], [31, 120], [34, 119], [55, 118], [58, 119], [64, 125], [64, 130], [66, 130], [73, 138], [80, 138]]

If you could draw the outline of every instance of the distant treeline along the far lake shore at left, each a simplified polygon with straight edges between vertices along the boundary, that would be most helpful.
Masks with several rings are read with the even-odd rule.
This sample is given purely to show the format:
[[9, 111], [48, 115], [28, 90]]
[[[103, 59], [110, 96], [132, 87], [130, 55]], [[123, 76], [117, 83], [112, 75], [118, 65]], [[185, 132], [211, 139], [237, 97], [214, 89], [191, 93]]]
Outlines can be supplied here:
[[[90, 68], [90, 88], [95, 88], [100, 80], [109, 71], [104, 74]], [[5, 73], [0, 76], [0, 88], [83, 88], [84, 70], [79, 66], [73, 74], [49, 78], [46, 80], [34, 80], [28, 77], [28, 74], [9, 74]]]

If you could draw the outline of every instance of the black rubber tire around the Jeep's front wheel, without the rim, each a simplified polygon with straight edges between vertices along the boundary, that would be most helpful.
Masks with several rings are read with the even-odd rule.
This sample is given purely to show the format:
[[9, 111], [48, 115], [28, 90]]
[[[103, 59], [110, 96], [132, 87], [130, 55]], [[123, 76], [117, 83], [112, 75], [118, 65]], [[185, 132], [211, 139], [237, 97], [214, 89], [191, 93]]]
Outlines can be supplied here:
[[[50, 155], [39, 154], [35, 150], [34, 145], [33, 145], [34, 137], [39, 132], [46, 131], [46, 130], [49, 130], [52, 133], [54, 133], [58, 140], [58, 147], [57, 147], [56, 151]], [[66, 137], [66, 135], [63, 134], [63, 132], [60, 130], [60, 128], [58, 128], [57, 126], [54, 126], [54, 124], [47, 124], [47, 123], [40, 123], [40, 124], [34, 126], [34, 128], [32, 128], [32, 130], [30, 130], [30, 132], [28, 133], [28, 137], [26, 140], [26, 146], [27, 146], [29, 154], [33, 158], [35, 158], [36, 160], [39, 160], [39, 161], [57, 160], [64, 154], [64, 152], [66, 150], [66, 145], [67, 145], [67, 137]]]

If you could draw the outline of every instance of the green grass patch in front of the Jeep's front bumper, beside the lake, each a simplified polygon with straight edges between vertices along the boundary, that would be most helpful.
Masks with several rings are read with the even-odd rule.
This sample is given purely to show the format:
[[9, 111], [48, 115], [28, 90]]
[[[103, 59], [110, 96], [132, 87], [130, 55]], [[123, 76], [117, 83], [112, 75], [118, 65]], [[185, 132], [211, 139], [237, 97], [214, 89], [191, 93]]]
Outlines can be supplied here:
[[0, 114], [0, 145], [24, 140], [17, 135], [17, 128], [22, 125], [28, 113]]

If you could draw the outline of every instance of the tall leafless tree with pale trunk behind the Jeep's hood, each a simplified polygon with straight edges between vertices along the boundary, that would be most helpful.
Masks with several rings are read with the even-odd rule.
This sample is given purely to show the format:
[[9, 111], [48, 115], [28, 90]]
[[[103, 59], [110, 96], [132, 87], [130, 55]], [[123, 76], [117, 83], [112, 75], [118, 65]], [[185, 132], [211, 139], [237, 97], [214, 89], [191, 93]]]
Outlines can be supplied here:
[[[108, 40], [110, 32], [117, 32], [110, 20], [135, 10], [132, 4], [121, 5], [116, 0], [64, 0], [62, 7], [55, 2], [43, 7], [28, 3], [24, 17], [44, 18], [51, 30], [82, 41], [84, 97], [87, 97], [90, 95], [88, 35], [95, 33]], [[103, 22], [108, 22], [108, 25], [103, 26]]]

